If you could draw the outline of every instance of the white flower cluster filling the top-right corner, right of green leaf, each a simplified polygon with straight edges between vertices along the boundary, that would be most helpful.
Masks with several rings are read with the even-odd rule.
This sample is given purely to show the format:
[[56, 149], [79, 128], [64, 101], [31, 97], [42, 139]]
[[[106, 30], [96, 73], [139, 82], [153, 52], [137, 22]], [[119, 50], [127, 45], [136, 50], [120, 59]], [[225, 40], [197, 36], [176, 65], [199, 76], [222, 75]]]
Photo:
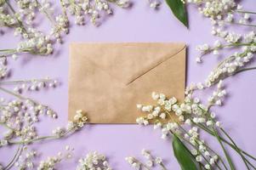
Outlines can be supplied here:
[[[204, 16], [210, 18], [213, 29], [213, 36], [219, 37], [211, 47], [208, 44], [197, 46], [196, 49], [202, 54], [196, 58], [196, 62], [202, 62], [202, 56], [213, 53], [219, 55], [219, 50], [224, 48], [238, 48], [234, 54], [225, 58], [219, 65], [210, 72], [205, 81], [206, 86], [212, 86], [220, 79], [230, 77], [237, 72], [243, 71], [245, 65], [253, 58], [256, 52], [256, 37], [254, 31], [247, 31], [245, 35], [229, 31], [227, 25], [253, 26], [250, 24], [250, 11], [242, 10], [242, 6], [234, 0], [220, 1], [198, 1], [189, 0], [188, 3], [198, 5], [198, 10]], [[246, 69], [245, 69], [246, 70]]]

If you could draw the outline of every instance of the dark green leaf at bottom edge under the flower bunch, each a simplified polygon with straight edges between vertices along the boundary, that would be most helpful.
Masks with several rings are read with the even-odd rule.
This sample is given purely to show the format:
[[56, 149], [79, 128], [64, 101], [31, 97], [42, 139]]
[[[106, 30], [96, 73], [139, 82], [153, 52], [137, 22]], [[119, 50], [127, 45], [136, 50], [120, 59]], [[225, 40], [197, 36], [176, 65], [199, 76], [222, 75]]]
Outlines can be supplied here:
[[175, 134], [173, 137], [173, 149], [174, 156], [179, 161], [179, 166], [182, 170], [197, 170], [195, 158]]

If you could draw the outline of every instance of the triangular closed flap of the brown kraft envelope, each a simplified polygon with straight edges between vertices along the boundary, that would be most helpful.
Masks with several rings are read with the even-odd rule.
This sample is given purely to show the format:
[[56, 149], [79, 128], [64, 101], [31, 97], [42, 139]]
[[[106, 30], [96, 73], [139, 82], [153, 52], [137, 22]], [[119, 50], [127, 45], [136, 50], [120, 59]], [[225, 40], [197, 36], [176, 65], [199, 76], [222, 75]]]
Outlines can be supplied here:
[[124, 84], [133, 82], [185, 48], [184, 43], [81, 43], [89, 59]]

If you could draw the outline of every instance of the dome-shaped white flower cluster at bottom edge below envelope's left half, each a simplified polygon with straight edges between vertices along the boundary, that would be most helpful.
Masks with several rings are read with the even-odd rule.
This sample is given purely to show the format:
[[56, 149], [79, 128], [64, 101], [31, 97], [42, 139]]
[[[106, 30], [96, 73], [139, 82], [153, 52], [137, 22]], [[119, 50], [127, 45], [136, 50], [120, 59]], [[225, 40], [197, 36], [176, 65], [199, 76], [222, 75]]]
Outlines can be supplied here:
[[77, 170], [111, 170], [104, 155], [97, 151], [89, 152], [85, 158], [79, 160]]

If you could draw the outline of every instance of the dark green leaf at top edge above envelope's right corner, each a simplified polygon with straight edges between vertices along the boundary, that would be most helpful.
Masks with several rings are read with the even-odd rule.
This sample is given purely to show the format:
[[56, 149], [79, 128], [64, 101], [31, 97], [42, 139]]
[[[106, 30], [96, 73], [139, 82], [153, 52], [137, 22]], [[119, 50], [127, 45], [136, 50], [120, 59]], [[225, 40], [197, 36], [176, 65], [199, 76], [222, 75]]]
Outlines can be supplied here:
[[172, 9], [176, 18], [188, 28], [188, 18], [185, 4], [181, 0], [166, 0], [168, 6]]

